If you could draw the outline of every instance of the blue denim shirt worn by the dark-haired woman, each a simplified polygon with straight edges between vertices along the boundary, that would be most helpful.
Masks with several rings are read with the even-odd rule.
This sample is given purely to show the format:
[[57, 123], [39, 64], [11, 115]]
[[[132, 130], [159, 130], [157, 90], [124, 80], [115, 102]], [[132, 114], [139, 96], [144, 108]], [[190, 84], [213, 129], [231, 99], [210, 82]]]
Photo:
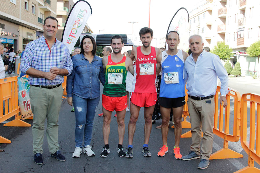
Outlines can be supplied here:
[[102, 59], [94, 56], [91, 63], [83, 54], [72, 57], [73, 70], [67, 77], [67, 97], [75, 94], [85, 99], [94, 99], [100, 96], [100, 82], [105, 84], [105, 73]]

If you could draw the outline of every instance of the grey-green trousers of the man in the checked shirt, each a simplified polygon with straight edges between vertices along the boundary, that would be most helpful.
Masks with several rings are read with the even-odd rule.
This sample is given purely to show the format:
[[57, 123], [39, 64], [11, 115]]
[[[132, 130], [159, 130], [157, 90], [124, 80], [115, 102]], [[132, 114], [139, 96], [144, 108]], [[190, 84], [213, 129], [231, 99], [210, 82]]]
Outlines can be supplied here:
[[51, 154], [59, 150], [58, 119], [62, 102], [62, 85], [54, 89], [30, 86], [31, 110], [34, 114], [33, 152], [43, 153], [44, 123], [47, 119], [46, 137]]

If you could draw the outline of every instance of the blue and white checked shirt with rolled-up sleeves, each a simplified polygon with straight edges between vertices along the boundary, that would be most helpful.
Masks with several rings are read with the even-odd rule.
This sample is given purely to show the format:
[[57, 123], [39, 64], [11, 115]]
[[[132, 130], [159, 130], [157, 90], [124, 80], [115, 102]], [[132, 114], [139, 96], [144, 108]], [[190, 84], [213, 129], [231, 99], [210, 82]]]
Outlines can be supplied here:
[[[68, 47], [56, 40], [51, 47], [51, 51], [46, 44], [44, 36], [30, 42], [24, 51], [21, 60], [21, 71], [26, 73], [29, 68], [34, 68], [43, 72], [49, 72], [52, 67], [67, 69], [68, 75], [72, 72], [72, 61]], [[36, 78], [29, 76], [29, 84], [31, 85], [57, 85], [64, 82], [61, 75], [57, 75], [54, 80], [45, 78]]]

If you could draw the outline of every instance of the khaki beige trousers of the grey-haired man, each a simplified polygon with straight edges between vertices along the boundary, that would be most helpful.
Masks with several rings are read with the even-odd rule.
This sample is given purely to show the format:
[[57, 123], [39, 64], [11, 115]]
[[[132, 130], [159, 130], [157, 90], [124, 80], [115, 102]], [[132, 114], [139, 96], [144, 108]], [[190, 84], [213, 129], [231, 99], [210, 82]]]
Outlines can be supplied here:
[[[213, 143], [214, 97], [205, 100], [194, 100], [188, 97], [187, 104], [192, 132], [192, 145], [190, 148], [197, 155], [201, 154], [201, 159], [208, 160], [212, 153]], [[201, 129], [203, 131], [203, 140], [200, 152]]]

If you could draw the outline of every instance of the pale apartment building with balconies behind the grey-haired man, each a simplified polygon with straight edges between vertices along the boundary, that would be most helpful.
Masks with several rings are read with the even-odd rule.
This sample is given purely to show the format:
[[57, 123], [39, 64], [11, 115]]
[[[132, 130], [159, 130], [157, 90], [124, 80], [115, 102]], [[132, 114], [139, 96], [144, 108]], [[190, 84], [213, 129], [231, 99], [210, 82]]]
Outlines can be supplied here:
[[240, 62], [242, 76], [260, 71], [256, 57], [249, 57], [246, 49], [260, 40], [260, 1], [208, 0], [190, 12], [187, 35], [199, 34], [204, 46], [213, 49], [225, 41], [233, 49], [230, 62]]

